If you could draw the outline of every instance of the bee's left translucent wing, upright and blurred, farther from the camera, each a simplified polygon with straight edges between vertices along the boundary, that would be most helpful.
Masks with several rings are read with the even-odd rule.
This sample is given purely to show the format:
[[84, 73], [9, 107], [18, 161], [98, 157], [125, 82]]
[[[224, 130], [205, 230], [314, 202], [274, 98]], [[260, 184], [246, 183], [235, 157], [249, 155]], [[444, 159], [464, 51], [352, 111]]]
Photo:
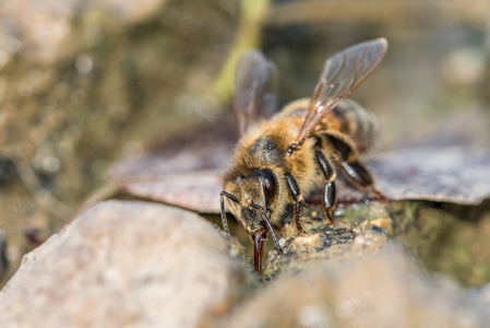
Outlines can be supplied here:
[[235, 74], [234, 107], [240, 134], [277, 110], [277, 69], [260, 50], [244, 52]]

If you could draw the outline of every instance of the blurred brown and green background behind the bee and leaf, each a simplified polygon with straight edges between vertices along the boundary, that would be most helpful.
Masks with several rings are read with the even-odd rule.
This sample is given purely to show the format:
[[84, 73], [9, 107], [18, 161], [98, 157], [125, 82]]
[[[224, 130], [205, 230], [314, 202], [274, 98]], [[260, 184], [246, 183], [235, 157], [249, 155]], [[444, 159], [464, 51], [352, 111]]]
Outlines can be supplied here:
[[384, 36], [384, 62], [351, 96], [381, 117], [377, 150], [488, 148], [489, 21], [487, 0], [1, 2], [11, 269], [108, 184], [113, 163], [232, 125], [235, 62], [250, 47], [277, 65], [284, 104], [312, 93], [326, 57]]

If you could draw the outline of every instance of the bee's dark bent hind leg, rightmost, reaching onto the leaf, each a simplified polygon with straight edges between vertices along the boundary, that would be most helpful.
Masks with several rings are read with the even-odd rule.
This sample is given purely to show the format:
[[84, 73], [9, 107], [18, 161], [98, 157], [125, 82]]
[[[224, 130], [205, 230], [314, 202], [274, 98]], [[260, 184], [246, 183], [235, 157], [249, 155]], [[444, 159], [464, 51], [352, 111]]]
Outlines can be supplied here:
[[380, 200], [386, 200], [386, 197], [374, 187], [374, 179], [369, 169], [358, 161], [357, 148], [348, 137], [340, 132], [327, 131], [322, 133], [321, 138], [334, 151], [338, 166], [352, 186]]

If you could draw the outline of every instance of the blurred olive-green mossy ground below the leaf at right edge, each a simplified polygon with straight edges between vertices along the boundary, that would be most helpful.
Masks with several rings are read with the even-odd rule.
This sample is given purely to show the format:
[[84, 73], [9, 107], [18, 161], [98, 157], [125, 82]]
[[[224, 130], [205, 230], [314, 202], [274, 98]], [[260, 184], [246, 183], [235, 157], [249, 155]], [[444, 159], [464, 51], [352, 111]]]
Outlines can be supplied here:
[[441, 203], [394, 203], [393, 237], [428, 271], [446, 273], [465, 286], [483, 285], [490, 281], [490, 212], [486, 207], [453, 204], [447, 211]]

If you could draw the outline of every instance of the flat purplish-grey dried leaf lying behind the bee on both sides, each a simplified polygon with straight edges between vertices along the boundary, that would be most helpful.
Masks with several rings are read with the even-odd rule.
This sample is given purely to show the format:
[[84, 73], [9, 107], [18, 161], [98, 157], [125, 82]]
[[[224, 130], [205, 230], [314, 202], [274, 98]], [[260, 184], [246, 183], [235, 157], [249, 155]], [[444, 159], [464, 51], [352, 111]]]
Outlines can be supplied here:
[[[490, 152], [486, 149], [414, 148], [381, 153], [366, 161], [379, 189], [392, 200], [422, 199], [478, 204], [490, 197]], [[219, 212], [223, 171], [162, 175], [121, 183], [121, 190], [186, 209]], [[139, 176], [140, 178], [142, 176]], [[360, 202], [367, 196], [337, 179], [340, 203]], [[313, 194], [310, 203], [320, 201]]]

